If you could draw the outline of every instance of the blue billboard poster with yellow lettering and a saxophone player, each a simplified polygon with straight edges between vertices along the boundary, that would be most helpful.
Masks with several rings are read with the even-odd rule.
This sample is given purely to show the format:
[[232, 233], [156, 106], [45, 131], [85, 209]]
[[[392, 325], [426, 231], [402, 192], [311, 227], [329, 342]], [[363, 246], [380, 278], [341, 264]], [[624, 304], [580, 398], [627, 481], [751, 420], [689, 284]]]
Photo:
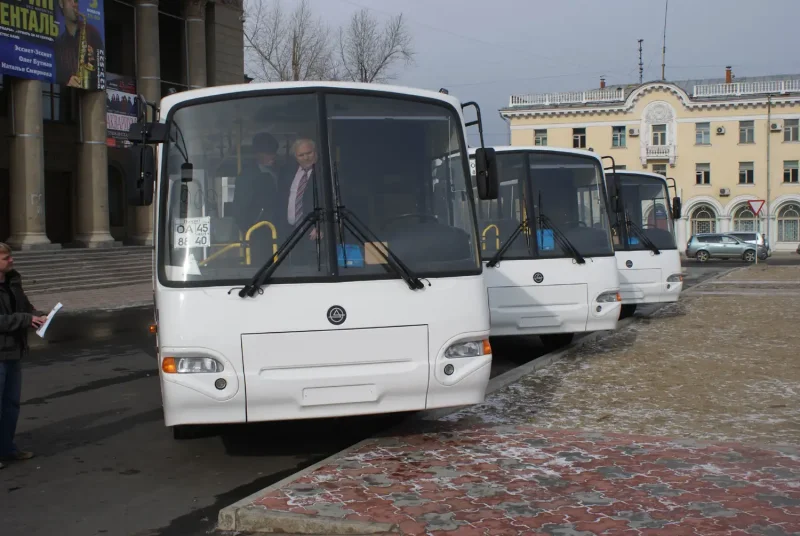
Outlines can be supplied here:
[[0, 72], [106, 88], [103, 0], [0, 0]]

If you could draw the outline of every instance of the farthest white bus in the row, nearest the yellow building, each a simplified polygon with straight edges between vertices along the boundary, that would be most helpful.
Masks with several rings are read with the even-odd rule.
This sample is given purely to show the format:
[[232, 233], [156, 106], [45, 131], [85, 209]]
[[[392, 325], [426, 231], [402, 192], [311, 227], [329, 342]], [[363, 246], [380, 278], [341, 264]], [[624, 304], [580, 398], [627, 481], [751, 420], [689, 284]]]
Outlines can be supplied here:
[[640, 303], [678, 301], [683, 275], [673, 220], [681, 217], [680, 198], [676, 195], [670, 206], [667, 179], [657, 173], [607, 170], [606, 183], [622, 294], [620, 318], [633, 315]]

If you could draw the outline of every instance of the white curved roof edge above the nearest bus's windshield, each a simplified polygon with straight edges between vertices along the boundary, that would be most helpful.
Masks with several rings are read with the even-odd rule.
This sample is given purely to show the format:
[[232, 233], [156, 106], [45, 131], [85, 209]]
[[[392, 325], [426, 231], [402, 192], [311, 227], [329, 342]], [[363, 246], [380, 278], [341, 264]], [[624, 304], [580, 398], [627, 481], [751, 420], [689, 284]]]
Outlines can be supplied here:
[[395, 93], [397, 95], [407, 95], [412, 97], [424, 97], [427, 99], [437, 99], [448, 104], [451, 104], [456, 110], [461, 112], [461, 102], [445, 93], [437, 91], [430, 91], [427, 89], [412, 88], [406, 86], [393, 86], [386, 84], [366, 84], [361, 82], [322, 82], [322, 81], [309, 81], [309, 82], [251, 82], [249, 84], [230, 84], [225, 86], [212, 86], [199, 89], [191, 89], [188, 91], [181, 91], [168, 95], [161, 99], [161, 117], [162, 120], [166, 116], [166, 112], [170, 108], [193, 99], [202, 99], [206, 97], [216, 97], [219, 95], [229, 94], [247, 94], [259, 91], [269, 90], [292, 90], [292, 89], [353, 89], [359, 91]]

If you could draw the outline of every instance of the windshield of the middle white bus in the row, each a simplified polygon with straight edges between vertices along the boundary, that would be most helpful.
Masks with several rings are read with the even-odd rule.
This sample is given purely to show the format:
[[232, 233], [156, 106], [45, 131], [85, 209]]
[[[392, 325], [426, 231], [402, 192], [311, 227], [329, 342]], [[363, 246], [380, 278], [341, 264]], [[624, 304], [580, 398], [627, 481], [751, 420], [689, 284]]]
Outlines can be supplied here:
[[603, 170], [596, 159], [548, 152], [498, 152], [499, 196], [479, 201], [481, 256], [503, 259], [614, 254]]

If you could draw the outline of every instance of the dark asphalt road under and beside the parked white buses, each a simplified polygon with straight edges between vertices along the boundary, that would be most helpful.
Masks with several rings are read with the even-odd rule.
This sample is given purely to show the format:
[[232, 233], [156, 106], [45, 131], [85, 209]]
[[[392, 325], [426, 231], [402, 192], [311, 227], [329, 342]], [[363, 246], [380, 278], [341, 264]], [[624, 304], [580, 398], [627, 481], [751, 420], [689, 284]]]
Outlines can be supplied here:
[[[688, 262], [687, 284], [731, 267]], [[493, 375], [543, 353], [536, 338], [493, 346]], [[226, 426], [175, 441], [150, 337], [38, 349], [24, 382], [18, 443], [37, 457], [0, 471], [3, 536], [206, 534], [220, 508], [404, 418]]]

